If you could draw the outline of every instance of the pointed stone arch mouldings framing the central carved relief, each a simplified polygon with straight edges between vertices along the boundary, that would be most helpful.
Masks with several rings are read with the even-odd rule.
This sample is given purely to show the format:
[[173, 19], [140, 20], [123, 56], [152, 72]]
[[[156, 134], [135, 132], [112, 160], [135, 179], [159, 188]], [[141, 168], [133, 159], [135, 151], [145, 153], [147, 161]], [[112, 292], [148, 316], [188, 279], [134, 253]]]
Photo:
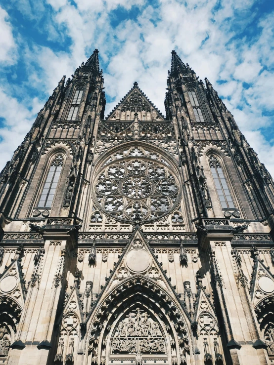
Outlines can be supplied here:
[[[136, 312], [137, 308], [140, 309], [144, 317], [147, 313], [152, 321], [157, 321], [162, 328], [162, 337], [166, 348], [165, 355], [161, 351], [157, 354], [157, 351], [153, 352], [152, 350], [149, 355], [140, 354], [143, 359], [148, 356], [150, 359], [154, 357], [153, 360], [157, 361], [157, 357], [164, 358], [165, 356], [168, 364], [180, 364], [184, 363], [185, 358], [190, 359], [192, 356], [191, 336], [188, 327], [190, 321], [182, 307], [175, 303], [161, 284], [146, 276], [135, 275], [122, 283], [119, 282], [111, 291], [100, 298], [100, 304], [97, 310], [92, 313], [88, 323], [86, 364], [90, 364], [91, 361], [98, 365], [110, 364], [110, 358], [115, 355], [111, 353], [115, 328], [119, 325], [119, 321], [125, 319], [127, 314]], [[139, 340], [137, 337], [141, 336], [136, 333], [134, 337]], [[151, 343], [153, 343], [153, 337]], [[153, 346], [156, 345], [153, 344]], [[127, 351], [124, 352], [127, 353]], [[123, 355], [124, 358], [134, 358], [138, 363], [140, 358], [137, 358], [136, 352], [135, 354], [124, 354], [123, 351], [120, 351], [120, 357]]]

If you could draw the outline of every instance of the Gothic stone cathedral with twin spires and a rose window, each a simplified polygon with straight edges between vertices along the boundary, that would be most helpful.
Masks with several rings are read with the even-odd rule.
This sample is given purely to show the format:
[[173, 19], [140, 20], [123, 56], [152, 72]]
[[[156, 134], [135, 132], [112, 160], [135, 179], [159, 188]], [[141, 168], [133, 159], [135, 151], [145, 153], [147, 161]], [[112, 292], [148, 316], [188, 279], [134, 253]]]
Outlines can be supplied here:
[[98, 50], [0, 173], [0, 364], [274, 363], [274, 181], [172, 51], [166, 116]]

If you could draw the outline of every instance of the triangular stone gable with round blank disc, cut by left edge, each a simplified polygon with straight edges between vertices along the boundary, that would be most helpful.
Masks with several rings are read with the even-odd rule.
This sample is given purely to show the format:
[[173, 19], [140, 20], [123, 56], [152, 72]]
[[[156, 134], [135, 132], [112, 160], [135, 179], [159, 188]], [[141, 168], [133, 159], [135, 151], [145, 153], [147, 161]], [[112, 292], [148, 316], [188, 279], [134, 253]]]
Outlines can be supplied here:
[[13, 260], [0, 276], [0, 296], [14, 298], [23, 308], [26, 299], [25, 280], [19, 260]]

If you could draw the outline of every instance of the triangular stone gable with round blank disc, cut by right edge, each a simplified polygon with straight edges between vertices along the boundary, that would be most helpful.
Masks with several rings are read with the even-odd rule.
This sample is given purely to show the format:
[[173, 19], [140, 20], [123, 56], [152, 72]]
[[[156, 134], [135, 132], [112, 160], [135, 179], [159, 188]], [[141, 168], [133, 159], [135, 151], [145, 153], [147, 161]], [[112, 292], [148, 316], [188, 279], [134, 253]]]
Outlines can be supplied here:
[[249, 291], [254, 307], [264, 297], [274, 294], [274, 276], [257, 256], [253, 267]]

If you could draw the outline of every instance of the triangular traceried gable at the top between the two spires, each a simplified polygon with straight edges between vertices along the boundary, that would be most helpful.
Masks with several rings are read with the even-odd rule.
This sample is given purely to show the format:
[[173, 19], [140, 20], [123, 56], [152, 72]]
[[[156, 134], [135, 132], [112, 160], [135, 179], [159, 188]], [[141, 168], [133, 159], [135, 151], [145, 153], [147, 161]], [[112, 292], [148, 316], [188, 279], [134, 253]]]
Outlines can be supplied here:
[[[153, 111], [153, 113], [152, 113]], [[139, 89], [137, 82], [134, 83], [133, 88], [127, 93], [127, 95], [116, 105], [116, 107], [109, 113], [106, 121], [109, 120], [127, 120], [125, 113], [131, 112], [133, 115], [138, 114], [139, 120], [142, 120], [141, 113], [150, 113], [154, 115], [155, 120], [165, 121], [162, 113], [156, 108], [156, 106], [147, 98], [147, 96]], [[130, 118], [133, 120], [133, 118]], [[152, 120], [152, 118], [150, 118]]]

